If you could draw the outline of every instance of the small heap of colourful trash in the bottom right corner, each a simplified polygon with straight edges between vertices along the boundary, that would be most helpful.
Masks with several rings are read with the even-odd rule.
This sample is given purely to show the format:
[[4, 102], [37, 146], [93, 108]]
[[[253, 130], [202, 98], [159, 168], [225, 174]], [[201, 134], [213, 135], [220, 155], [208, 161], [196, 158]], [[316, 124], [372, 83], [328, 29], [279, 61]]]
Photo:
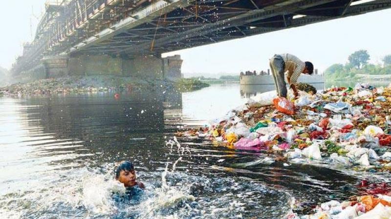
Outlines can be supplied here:
[[358, 195], [339, 202], [331, 200], [316, 206], [314, 214], [287, 215], [287, 219], [390, 219], [391, 186], [363, 180], [358, 187]]

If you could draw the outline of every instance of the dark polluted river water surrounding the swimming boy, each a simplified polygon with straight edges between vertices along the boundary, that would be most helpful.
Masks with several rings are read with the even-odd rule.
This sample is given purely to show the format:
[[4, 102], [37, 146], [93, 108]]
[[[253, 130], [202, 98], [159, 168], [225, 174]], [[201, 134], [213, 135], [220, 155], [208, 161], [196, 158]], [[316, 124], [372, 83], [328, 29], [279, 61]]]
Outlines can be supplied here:
[[[239, 90], [1, 97], [0, 218], [274, 219], [295, 200], [310, 206], [354, 194], [365, 176], [249, 162], [267, 154], [174, 137], [244, 104]], [[130, 200], [116, 198], [122, 160], [146, 185]]]

